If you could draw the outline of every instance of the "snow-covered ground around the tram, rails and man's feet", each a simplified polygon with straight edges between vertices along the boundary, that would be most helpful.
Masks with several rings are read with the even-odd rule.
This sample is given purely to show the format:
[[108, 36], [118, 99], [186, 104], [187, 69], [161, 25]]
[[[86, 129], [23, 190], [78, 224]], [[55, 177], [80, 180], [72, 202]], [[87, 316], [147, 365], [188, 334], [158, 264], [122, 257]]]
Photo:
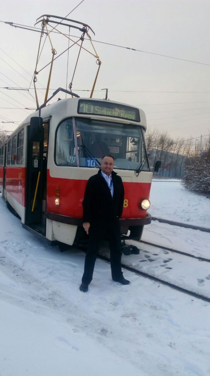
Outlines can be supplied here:
[[[167, 183], [154, 184], [167, 191]], [[158, 207], [154, 184], [151, 201]], [[168, 184], [176, 190], [179, 183]], [[193, 194], [195, 205], [199, 199]], [[175, 212], [176, 202], [171, 209]], [[128, 271], [124, 276], [131, 285], [119, 285], [111, 279], [110, 265], [99, 259], [89, 292], [80, 293], [83, 252], [46, 247], [21, 227], [1, 197], [0, 223], [0, 376], [210, 374], [209, 303]], [[209, 233], [153, 222], [143, 238], [209, 258]], [[192, 288], [199, 276], [209, 291], [206, 263], [138, 245], [140, 255], [127, 256], [127, 264], [147, 264], [149, 273], [162, 273], [174, 283], [181, 283], [176, 281], [181, 276]]]

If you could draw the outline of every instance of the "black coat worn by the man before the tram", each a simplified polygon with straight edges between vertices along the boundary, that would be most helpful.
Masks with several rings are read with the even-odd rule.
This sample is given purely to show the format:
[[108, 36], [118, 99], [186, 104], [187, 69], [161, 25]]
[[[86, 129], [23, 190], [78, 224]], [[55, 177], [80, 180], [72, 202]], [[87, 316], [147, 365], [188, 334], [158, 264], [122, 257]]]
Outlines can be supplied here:
[[120, 176], [112, 171], [113, 197], [101, 170], [88, 180], [83, 200], [83, 222], [109, 221], [121, 217], [124, 186]]

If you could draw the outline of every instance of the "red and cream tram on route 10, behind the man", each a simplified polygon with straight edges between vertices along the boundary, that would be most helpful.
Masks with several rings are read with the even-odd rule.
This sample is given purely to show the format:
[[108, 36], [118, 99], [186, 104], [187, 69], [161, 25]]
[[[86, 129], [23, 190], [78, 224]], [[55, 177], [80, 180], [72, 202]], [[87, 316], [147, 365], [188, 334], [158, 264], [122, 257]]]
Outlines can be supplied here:
[[[41, 111], [41, 117], [40, 115]], [[122, 238], [140, 240], [153, 173], [144, 111], [109, 100], [58, 100], [26, 118], [0, 145], [0, 191], [22, 225], [48, 244], [85, 238], [82, 201], [104, 154], [115, 158], [125, 200]], [[128, 231], [130, 230], [130, 232]]]

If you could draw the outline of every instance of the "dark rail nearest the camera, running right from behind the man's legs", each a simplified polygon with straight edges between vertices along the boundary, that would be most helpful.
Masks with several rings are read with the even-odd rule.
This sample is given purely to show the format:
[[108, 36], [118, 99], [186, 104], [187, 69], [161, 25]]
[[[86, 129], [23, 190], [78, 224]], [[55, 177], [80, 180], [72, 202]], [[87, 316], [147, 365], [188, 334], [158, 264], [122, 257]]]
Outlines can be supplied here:
[[[110, 262], [110, 259], [107, 257], [107, 256], [103, 256], [103, 255], [98, 255], [98, 258], [101, 259], [101, 260], [104, 260], [106, 262]], [[203, 300], [204, 302], [208, 302], [210, 303], [210, 298], [208, 298], [207, 296], [204, 296], [202, 294], [198, 294], [198, 293], [195, 293], [194, 291], [190, 291], [186, 288], [183, 288], [183, 287], [180, 287], [180, 286], [177, 286], [175, 284], [172, 284], [171, 282], [167, 282], [165, 280], [162, 280], [158, 277], [155, 277], [155, 276], [152, 276], [151, 274], [148, 274], [148, 273], [145, 273], [143, 271], [139, 271], [139, 270], [136, 270], [135, 268], [133, 267], [130, 267], [128, 265], [125, 265], [125, 264], [121, 264], [122, 268], [128, 270], [128, 271], [131, 271], [132, 273], [135, 273], [137, 274], [138, 276], [141, 276], [141, 277], [145, 277], [145, 278], [148, 278], [148, 279], [151, 279], [155, 282], [158, 282], [162, 285], [165, 285], [165, 286], [168, 286], [170, 288], [173, 288], [174, 290], [177, 290], [177, 291], [180, 291], [181, 293], [184, 293], [184, 294], [187, 294], [187, 295], [190, 295], [196, 299], [201, 299]]]

